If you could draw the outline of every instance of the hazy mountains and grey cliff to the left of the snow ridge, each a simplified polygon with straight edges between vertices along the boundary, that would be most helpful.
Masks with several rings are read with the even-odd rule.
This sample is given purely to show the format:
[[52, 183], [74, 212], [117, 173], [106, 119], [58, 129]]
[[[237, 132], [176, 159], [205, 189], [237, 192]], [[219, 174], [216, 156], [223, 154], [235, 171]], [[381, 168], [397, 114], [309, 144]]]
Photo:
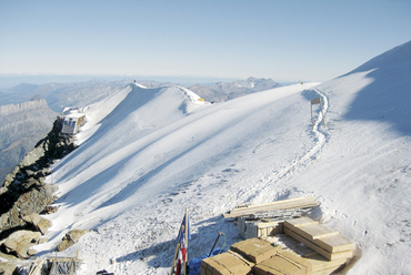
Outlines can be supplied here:
[[47, 135], [62, 106], [99, 102], [124, 85], [122, 81], [21, 83], [0, 93], [0, 181]]

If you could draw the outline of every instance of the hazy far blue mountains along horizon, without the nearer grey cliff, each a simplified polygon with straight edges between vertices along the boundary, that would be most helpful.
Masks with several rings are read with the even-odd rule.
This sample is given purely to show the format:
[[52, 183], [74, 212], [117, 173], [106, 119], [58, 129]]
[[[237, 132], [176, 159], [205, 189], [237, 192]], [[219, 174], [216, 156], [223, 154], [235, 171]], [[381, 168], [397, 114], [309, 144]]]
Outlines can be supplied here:
[[[123, 89], [133, 80], [93, 80], [87, 82], [30, 84], [20, 83], [6, 92], [0, 92], [0, 105], [19, 104], [26, 101], [46, 99], [49, 108], [61, 112], [63, 106], [86, 106], [109, 98], [113, 91]], [[150, 80], [137, 81], [147, 88], [172, 86], [176, 83]], [[187, 86], [210, 102], [222, 102], [260, 92], [281, 84], [272, 79], [249, 78], [233, 82], [217, 82]]]

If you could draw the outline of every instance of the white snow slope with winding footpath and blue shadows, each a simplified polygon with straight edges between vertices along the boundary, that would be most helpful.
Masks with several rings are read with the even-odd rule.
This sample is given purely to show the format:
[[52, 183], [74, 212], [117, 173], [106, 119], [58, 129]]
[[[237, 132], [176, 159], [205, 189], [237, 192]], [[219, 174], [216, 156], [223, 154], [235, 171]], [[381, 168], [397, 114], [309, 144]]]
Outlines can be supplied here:
[[[235, 205], [313, 195], [315, 217], [361, 249], [349, 274], [408, 273], [410, 49], [322, 84], [219, 104], [180, 86], [130, 84], [89, 108], [80, 147], [54, 165], [60, 210], [36, 248], [50, 253], [68, 230], [89, 228], [61, 253], [80, 249], [82, 274], [168, 274], [186, 207], [194, 257], [220, 231], [227, 245], [240, 240], [221, 216]], [[318, 96], [325, 125], [314, 109], [312, 129]]]

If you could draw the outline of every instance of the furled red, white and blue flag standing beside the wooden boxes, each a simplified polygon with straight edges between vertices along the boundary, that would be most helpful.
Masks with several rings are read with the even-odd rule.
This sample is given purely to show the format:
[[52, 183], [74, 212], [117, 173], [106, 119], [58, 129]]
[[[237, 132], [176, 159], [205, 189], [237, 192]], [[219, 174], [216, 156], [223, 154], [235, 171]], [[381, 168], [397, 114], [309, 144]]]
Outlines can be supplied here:
[[[187, 221], [186, 221], [187, 218]], [[187, 234], [186, 234], [187, 226]], [[176, 275], [187, 275], [184, 273], [184, 264], [187, 263], [187, 246], [188, 240], [191, 240], [190, 218], [186, 213], [184, 218], [180, 225], [179, 235], [177, 236], [177, 243], [179, 246], [177, 263], [176, 263]]]

